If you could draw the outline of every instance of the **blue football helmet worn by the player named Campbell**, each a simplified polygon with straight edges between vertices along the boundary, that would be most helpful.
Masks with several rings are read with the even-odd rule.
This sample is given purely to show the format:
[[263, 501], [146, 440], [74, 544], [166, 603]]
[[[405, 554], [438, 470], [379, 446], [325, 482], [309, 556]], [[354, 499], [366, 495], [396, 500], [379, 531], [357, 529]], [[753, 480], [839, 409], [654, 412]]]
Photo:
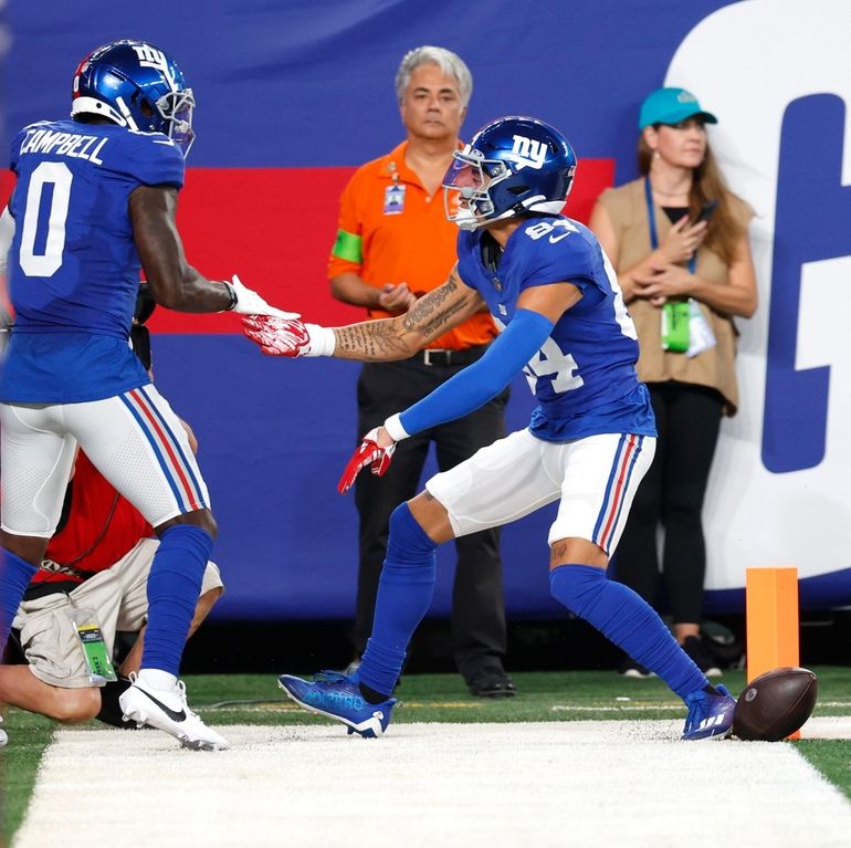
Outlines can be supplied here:
[[128, 129], [162, 133], [187, 156], [195, 97], [175, 61], [144, 41], [114, 41], [74, 74], [71, 116], [99, 115]]

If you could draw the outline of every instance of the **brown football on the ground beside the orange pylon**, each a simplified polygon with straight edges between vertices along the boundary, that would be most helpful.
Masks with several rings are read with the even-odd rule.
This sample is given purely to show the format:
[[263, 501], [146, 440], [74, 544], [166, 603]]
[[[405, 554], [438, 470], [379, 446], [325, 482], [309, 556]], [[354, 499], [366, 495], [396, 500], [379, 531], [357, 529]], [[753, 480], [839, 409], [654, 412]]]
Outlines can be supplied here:
[[816, 706], [818, 680], [808, 669], [773, 669], [752, 680], [736, 703], [733, 734], [779, 742], [795, 733]]

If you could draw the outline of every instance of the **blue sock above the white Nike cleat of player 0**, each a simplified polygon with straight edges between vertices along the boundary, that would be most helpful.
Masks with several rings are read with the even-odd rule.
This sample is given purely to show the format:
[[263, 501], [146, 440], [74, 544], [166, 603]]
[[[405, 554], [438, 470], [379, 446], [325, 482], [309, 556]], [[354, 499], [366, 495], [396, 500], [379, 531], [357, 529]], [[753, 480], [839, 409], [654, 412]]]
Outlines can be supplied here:
[[176, 524], [162, 534], [148, 575], [141, 668], [178, 676], [212, 543], [210, 534], [193, 524]]

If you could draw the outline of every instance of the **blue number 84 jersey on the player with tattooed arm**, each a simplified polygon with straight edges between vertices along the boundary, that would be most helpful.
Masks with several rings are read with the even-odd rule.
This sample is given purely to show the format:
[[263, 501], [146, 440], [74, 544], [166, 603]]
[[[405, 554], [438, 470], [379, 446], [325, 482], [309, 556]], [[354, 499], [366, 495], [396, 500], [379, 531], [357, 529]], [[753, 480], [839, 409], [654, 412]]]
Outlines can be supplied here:
[[525, 368], [539, 402], [532, 432], [547, 441], [655, 436], [649, 394], [635, 374], [635, 327], [590, 230], [563, 216], [530, 218], [511, 234], [495, 271], [483, 261], [483, 234], [459, 234], [459, 274], [503, 324], [511, 324], [517, 299], [532, 286], [568, 282], [582, 293]]

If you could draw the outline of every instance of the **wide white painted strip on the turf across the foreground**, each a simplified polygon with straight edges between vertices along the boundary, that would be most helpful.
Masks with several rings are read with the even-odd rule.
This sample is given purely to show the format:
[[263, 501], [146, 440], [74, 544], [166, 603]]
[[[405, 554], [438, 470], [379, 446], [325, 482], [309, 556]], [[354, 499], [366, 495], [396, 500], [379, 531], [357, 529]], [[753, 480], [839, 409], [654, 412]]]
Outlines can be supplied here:
[[61, 730], [12, 846], [848, 846], [851, 804], [794, 746], [684, 743], [681, 729], [396, 724], [361, 740], [241, 725], [220, 729], [233, 747], [219, 753]]

